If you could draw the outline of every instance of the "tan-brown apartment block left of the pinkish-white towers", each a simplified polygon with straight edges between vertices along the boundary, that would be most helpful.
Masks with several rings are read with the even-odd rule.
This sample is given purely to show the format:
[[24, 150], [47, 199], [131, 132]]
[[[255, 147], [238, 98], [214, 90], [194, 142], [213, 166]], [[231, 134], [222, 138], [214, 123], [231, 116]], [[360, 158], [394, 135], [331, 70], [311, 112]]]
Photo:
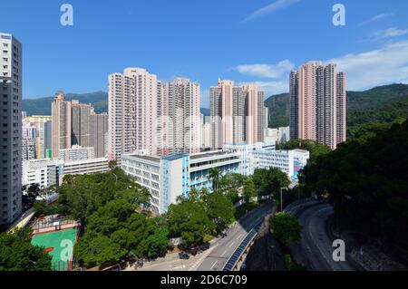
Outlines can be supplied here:
[[53, 158], [58, 158], [61, 149], [71, 149], [74, 145], [92, 147], [98, 151], [95, 155], [105, 155], [106, 114], [96, 114], [90, 104], [66, 101], [63, 92], [56, 92], [51, 104], [51, 118]]

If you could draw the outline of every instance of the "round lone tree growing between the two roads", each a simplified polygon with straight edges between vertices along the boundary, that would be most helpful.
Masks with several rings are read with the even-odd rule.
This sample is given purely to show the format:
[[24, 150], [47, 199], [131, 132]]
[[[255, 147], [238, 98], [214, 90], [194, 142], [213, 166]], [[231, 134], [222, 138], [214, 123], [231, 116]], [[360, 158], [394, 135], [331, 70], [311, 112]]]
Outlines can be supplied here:
[[294, 216], [286, 213], [277, 213], [269, 218], [269, 226], [274, 236], [284, 246], [300, 241], [302, 226], [300, 226], [299, 221]]

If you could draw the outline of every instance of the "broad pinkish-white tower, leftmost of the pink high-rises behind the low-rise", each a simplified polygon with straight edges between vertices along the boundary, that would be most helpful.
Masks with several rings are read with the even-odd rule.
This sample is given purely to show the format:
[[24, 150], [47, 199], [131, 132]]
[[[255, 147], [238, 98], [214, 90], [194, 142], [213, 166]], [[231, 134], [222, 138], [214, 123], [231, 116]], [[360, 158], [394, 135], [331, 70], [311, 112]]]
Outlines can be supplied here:
[[157, 76], [142, 68], [127, 68], [109, 76], [109, 158], [136, 149], [156, 154], [158, 120]]

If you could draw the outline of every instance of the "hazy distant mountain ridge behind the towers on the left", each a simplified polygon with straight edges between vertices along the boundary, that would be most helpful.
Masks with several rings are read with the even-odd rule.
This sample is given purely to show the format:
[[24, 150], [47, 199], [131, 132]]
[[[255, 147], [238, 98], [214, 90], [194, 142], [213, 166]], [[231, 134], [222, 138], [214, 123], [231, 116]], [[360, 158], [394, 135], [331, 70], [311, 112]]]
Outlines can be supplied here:
[[[96, 113], [108, 112], [107, 92], [66, 93], [65, 97], [67, 101], [78, 100], [82, 103], [91, 103]], [[26, 111], [27, 115], [50, 115], [52, 101], [53, 97], [25, 99], [23, 111]], [[201, 108], [201, 113], [209, 115], [209, 109]]]

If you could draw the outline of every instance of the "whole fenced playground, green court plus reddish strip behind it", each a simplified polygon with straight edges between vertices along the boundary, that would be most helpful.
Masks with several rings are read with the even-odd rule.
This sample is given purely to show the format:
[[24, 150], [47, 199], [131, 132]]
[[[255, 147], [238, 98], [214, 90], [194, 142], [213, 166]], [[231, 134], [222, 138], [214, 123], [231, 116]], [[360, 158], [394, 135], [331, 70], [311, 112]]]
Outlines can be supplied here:
[[52, 256], [53, 271], [73, 270], [73, 246], [79, 224], [66, 217], [48, 216], [34, 221], [31, 243]]

